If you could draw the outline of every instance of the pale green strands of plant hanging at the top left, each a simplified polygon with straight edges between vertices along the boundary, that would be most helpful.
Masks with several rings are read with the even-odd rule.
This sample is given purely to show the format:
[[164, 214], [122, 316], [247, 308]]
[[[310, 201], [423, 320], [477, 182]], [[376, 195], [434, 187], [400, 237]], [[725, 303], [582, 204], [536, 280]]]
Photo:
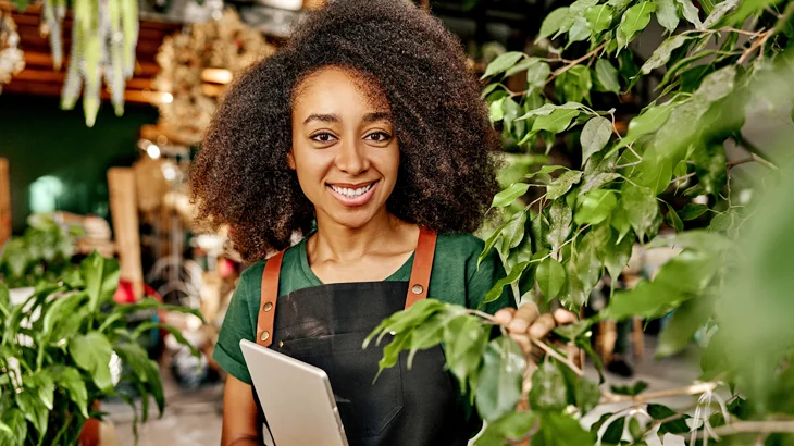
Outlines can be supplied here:
[[[16, 0], [20, 11], [27, 0]], [[44, 22], [49, 33], [53, 67], [63, 63], [62, 26], [66, 0], [44, 0]], [[133, 76], [138, 41], [137, 0], [73, 0], [71, 61], [61, 92], [61, 108], [72, 110], [83, 90], [86, 125], [94, 126], [99, 111], [102, 78], [110, 88], [116, 115], [124, 113], [126, 80]]]

